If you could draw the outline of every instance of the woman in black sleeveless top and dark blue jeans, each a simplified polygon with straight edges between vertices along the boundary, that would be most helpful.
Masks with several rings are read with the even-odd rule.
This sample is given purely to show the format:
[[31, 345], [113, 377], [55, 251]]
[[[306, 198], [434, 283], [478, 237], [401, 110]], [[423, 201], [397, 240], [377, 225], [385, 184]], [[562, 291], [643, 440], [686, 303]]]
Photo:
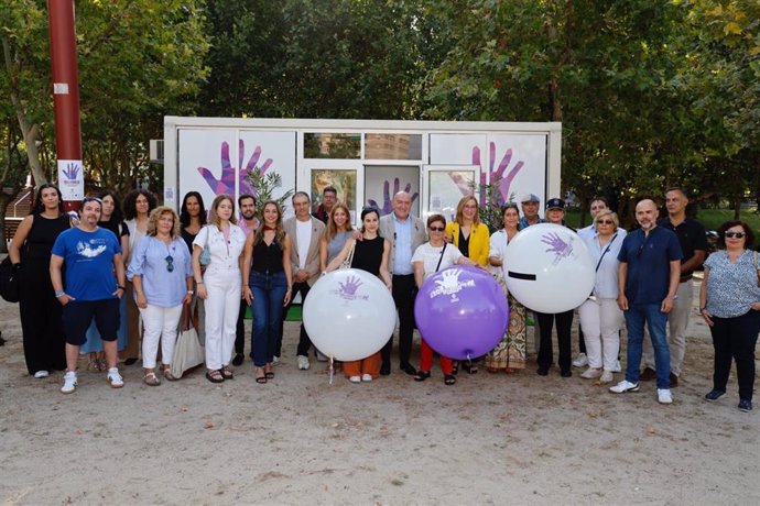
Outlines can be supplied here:
[[260, 384], [274, 377], [274, 348], [293, 285], [291, 238], [282, 228], [282, 210], [269, 200], [262, 215], [261, 226], [246, 240], [242, 261], [243, 297], [253, 308], [253, 365]]

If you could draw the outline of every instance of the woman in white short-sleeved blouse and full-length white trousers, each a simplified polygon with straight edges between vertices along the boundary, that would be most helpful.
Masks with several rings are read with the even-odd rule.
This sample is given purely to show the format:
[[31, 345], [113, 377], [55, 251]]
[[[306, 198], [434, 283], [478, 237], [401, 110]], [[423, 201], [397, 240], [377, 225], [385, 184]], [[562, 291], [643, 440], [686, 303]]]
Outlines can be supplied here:
[[[240, 310], [240, 253], [246, 244], [246, 234], [236, 223], [232, 197], [219, 195], [211, 204], [209, 223], [193, 241], [193, 274], [206, 307], [206, 378], [211, 383], [232, 380], [229, 362]], [[204, 248], [211, 261], [202, 275]]]

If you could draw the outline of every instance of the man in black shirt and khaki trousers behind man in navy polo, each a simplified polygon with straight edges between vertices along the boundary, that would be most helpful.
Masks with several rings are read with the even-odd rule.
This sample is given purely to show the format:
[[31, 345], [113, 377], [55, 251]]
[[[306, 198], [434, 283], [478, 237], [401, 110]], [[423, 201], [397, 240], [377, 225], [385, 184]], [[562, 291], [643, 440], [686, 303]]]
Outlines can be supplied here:
[[[667, 218], [658, 221], [658, 226], [672, 230], [678, 238], [681, 252], [681, 279], [678, 298], [673, 302], [673, 310], [667, 317], [667, 344], [671, 351], [671, 387], [678, 386], [678, 376], [686, 354], [686, 327], [688, 314], [692, 312], [692, 276], [707, 257], [707, 233], [697, 220], [686, 217], [688, 198], [683, 188], [674, 187], [665, 191]], [[644, 370], [641, 381], [654, 380], [654, 352], [649, 341], [644, 342]]]

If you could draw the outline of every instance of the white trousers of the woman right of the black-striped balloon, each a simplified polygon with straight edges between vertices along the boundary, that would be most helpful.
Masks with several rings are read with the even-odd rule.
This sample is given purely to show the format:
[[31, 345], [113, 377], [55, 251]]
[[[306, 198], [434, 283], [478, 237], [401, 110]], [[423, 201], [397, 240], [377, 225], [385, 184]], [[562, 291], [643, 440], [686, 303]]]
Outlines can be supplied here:
[[588, 299], [578, 308], [588, 366], [612, 371], [620, 352], [622, 311], [616, 299]]

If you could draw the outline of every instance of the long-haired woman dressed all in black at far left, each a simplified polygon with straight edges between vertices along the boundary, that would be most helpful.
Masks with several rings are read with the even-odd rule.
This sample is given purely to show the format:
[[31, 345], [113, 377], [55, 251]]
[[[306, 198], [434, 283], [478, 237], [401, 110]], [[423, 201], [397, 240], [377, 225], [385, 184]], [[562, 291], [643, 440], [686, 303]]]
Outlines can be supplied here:
[[20, 270], [19, 310], [26, 370], [37, 378], [66, 369], [63, 306], [55, 298], [50, 262], [55, 239], [68, 228], [61, 191], [54, 185], [42, 185], [30, 216], [19, 224], [8, 249], [11, 263]]

